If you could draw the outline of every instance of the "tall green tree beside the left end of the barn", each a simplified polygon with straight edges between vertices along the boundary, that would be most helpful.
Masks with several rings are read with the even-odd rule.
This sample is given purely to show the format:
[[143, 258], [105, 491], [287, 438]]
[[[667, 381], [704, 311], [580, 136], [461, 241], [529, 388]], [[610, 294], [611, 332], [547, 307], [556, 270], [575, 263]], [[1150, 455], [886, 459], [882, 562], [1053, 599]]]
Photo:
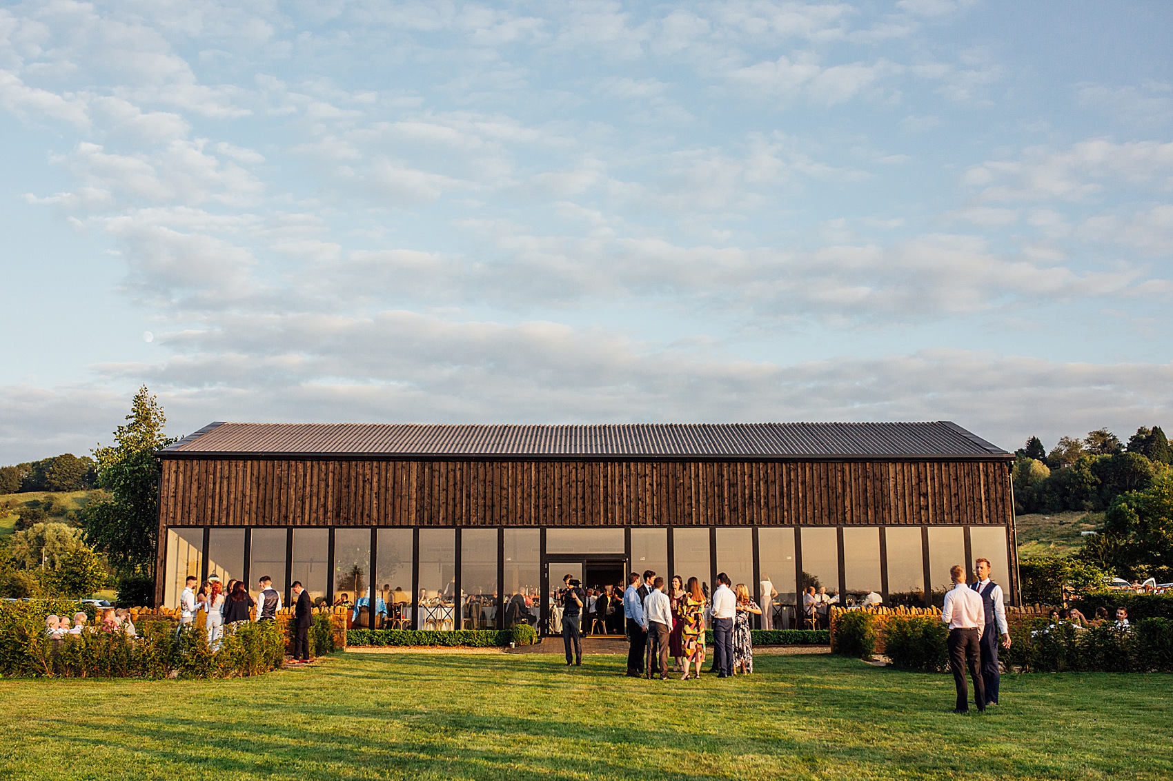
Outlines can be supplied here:
[[113, 446], [94, 450], [97, 484], [109, 494], [94, 498], [82, 512], [86, 541], [122, 575], [154, 571], [158, 537], [154, 454], [171, 442], [163, 435], [163, 407], [147, 386], [135, 394], [126, 420], [114, 432]]

